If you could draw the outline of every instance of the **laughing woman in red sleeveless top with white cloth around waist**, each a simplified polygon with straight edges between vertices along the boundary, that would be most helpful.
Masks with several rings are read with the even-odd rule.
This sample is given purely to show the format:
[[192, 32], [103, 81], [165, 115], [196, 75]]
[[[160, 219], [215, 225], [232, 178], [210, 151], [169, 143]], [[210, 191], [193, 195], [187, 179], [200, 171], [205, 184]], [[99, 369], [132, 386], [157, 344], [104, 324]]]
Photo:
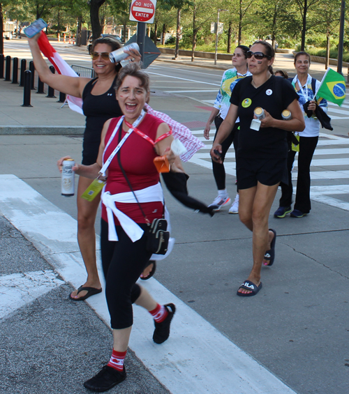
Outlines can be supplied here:
[[[153, 340], [157, 344], [168, 339], [175, 312], [172, 303], [159, 305], [136, 284], [151, 257], [146, 248], [147, 223], [163, 215], [163, 194], [153, 160], [165, 155], [171, 171], [177, 170], [176, 156], [170, 150], [173, 137], [167, 123], [143, 111], [149, 97], [149, 77], [137, 63], [122, 68], [115, 89], [124, 118], [105, 122], [94, 165], [73, 168], [90, 179], [100, 172], [107, 176], [102, 196], [101, 252], [114, 346], [109, 363], [84, 382], [91, 391], [107, 391], [126, 379], [124, 358], [133, 324], [132, 303], [147, 309], [154, 317]], [[134, 202], [132, 189], [142, 195], [139, 204]], [[133, 220], [131, 224], [129, 219]], [[135, 236], [135, 232], [139, 235]]]

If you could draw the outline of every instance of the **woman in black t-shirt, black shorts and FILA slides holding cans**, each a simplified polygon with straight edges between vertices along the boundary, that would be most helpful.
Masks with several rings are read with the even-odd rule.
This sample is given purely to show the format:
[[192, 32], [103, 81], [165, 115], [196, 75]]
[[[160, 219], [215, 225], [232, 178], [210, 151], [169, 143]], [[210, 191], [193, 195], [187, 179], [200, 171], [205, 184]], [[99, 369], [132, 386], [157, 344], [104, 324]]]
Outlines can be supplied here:
[[[237, 183], [240, 193], [239, 218], [253, 232], [253, 268], [239, 287], [238, 296], [254, 296], [262, 287], [262, 263], [274, 263], [276, 232], [269, 229], [268, 218], [280, 181], [286, 181], [288, 145], [286, 132], [304, 130], [304, 116], [297, 103], [298, 96], [290, 82], [272, 75], [275, 52], [265, 41], [255, 42], [247, 52], [246, 77], [235, 86], [230, 98], [228, 115], [219, 128], [211, 149], [222, 151], [221, 143], [240, 119], [239, 148], [237, 150]], [[256, 107], [262, 107], [265, 119], [260, 130], [253, 130], [251, 122]], [[292, 119], [282, 120], [281, 113], [289, 109]], [[269, 229], [269, 230], [268, 230]]]

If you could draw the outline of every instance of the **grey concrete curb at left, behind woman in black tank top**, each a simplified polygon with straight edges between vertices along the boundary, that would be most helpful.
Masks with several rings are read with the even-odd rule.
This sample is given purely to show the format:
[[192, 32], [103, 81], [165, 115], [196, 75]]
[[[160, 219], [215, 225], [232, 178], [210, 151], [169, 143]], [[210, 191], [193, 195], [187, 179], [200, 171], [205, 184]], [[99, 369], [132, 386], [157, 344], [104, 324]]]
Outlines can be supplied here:
[[0, 126], [0, 135], [83, 135], [84, 126]]

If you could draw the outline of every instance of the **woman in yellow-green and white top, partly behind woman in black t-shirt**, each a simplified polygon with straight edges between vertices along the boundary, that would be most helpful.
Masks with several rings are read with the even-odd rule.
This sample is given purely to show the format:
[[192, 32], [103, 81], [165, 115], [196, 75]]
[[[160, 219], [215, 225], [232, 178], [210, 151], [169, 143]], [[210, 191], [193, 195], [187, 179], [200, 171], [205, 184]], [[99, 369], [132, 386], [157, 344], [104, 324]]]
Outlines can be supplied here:
[[[221, 81], [221, 89], [219, 89], [216, 100], [214, 102], [214, 109], [212, 109], [211, 115], [209, 116], [209, 120], [207, 121], [207, 125], [204, 130], [204, 137], [209, 139], [209, 130], [211, 128], [211, 123], [214, 121], [216, 126], [216, 134], [214, 138], [216, 138], [219, 126], [221, 126], [225, 116], [228, 114], [228, 109], [230, 106], [230, 96], [232, 94], [232, 89], [235, 88], [235, 85], [244, 77], [251, 75], [247, 69], [247, 57], [246, 53], [248, 51], [248, 47], [245, 45], [238, 45], [235, 48], [234, 54], [232, 55], [232, 66], [234, 68], [230, 68], [229, 70], [225, 70], [223, 73], [222, 81]], [[223, 206], [229, 204], [230, 197], [228, 195], [228, 191], [225, 188], [225, 169], [224, 169], [224, 159], [225, 154], [228, 152], [231, 144], [234, 144], [235, 153], [237, 152], [237, 141], [239, 136], [239, 118], [235, 122], [235, 126], [230, 132], [230, 135], [222, 142], [222, 162], [216, 162], [212, 160], [212, 169], [214, 172], [214, 180], [216, 181], [216, 185], [218, 188], [218, 196], [214, 199], [211, 206], [215, 209], [215, 211], [219, 211]], [[237, 189], [237, 195], [235, 197], [232, 206], [230, 206], [229, 213], [239, 213], [239, 189]]]

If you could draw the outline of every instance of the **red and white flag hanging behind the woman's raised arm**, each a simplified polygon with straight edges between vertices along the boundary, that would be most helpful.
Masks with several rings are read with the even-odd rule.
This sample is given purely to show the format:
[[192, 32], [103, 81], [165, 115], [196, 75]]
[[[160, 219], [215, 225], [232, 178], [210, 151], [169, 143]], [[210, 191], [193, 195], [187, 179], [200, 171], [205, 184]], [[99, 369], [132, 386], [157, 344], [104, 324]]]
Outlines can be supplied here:
[[[40, 51], [43, 52], [47, 59], [49, 59], [57, 73], [67, 75], [68, 77], [79, 77], [73, 68], [71, 68], [68, 63], [61, 58], [54, 47], [52, 47], [43, 31], [41, 31], [40, 37], [38, 38], [38, 45]], [[75, 112], [79, 112], [79, 114], [84, 114], [82, 112], [82, 98], [67, 95], [67, 102], [70, 109], [73, 109]]]

